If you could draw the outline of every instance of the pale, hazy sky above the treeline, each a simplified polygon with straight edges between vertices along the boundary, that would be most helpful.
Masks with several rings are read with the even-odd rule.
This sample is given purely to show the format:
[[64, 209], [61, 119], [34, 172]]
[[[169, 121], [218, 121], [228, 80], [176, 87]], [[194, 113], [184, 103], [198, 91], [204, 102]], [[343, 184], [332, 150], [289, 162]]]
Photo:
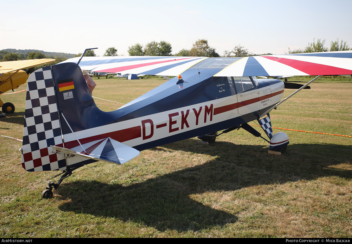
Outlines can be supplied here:
[[207, 39], [222, 55], [236, 45], [284, 54], [317, 38], [352, 46], [352, 1], [4, 1], [0, 50], [82, 53], [168, 41], [172, 53]]

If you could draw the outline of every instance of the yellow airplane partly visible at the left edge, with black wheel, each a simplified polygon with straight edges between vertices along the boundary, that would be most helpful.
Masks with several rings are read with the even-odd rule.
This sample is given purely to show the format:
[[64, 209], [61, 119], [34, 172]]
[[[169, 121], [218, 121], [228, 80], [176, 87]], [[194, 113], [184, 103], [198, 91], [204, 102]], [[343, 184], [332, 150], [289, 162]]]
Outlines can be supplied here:
[[[55, 59], [42, 58], [30, 60], [17, 60], [0, 62], [0, 95], [6, 91], [17, 89], [20, 85], [26, 83], [31, 70], [38, 65], [50, 64], [55, 62]], [[28, 69], [27, 72], [22, 69]], [[0, 99], [0, 107], [2, 112], [11, 114], [15, 111], [15, 106], [12, 103], [4, 103]]]

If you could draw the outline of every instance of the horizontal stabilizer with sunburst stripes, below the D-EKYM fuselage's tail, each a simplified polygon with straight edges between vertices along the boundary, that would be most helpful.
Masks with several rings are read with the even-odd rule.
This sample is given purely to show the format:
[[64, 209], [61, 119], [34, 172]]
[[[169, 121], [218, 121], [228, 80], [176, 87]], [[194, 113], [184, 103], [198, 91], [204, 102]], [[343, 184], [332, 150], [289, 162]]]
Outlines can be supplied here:
[[[81, 156], [84, 158], [95, 159], [108, 163], [122, 164], [139, 155], [139, 151], [121, 142], [115, 141], [110, 137], [106, 139], [89, 142], [82, 146], [71, 149], [51, 146], [57, 153]], [[83, 150], [84, 149], [84, 150]]]

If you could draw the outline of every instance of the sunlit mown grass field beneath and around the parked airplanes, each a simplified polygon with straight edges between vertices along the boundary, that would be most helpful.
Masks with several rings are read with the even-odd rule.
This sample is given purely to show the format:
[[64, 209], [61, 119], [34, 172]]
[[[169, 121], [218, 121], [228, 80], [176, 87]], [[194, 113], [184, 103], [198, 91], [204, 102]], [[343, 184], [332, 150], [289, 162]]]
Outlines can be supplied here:
[[[97, 79], [93, 96], [127, 103], [164, 81]], [[352, 79], [311, 87], [272, 111], [272, 126], [352, 135]], [[25, 92], [1, 99], [16, 110], [0, 119], [0, 135], [21, 139]], [[95, 102], [104, 111], [121, 106]], [[242, 129], [211, 145], [191, 138], [124, 165], [84, 166], [96, 167], [65, 179], [52, 199], [40, 193], [55, 172], [26, 172], [21, 143], [0, 138], [0, 236], [352, 237], [352, 138], [278, 131], [290, 137], [280, 156]]]

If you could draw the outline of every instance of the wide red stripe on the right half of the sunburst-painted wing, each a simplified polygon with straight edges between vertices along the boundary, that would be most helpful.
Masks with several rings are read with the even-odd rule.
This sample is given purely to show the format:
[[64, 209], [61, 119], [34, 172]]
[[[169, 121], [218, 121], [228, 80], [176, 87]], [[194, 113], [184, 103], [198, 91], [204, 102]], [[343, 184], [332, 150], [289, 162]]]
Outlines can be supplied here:
[[288, 58], [276, 58], [276, 57], [268, 57], [261, 56], [272, 61], [276, 61], [285, 65], [288, 65], [294, 69], [300, 70], [308, 75], [350, 75], [352, 70], [337, 68], [330, 65], [325, 64], [316, 64], [306, 61], [288, 59]]

